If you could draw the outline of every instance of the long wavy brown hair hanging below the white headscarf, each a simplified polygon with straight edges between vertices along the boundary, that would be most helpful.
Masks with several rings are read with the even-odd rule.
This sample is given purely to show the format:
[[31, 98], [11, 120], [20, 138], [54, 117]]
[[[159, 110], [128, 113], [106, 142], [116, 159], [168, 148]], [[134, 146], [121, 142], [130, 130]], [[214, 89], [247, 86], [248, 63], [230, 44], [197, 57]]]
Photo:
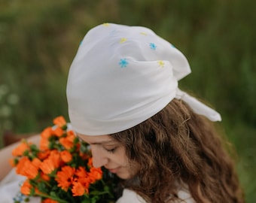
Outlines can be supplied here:
[[111, 136], [141, 165], [125, 186], [148, 202], [182, 202], [178, 186], [186, 187], [197, 203], [244, 202], [222, 138], [181, 100], [173, 99], [145, 122]]

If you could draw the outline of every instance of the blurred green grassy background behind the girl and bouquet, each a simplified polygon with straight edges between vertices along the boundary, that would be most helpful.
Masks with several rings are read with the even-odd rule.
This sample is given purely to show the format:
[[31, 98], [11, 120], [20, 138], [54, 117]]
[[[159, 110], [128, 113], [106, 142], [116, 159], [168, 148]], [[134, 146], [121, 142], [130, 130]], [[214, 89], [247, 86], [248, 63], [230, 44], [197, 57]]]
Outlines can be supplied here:
[[187, 56], [192, 74], [180, 85], [221, 112], [246, 201], [255, 202], [255, 6], [252, 0], [0, 0], [0, 133], [40, 132], [53, 117], [68, 118], [67, 74], [90, 28], [147, 26]]

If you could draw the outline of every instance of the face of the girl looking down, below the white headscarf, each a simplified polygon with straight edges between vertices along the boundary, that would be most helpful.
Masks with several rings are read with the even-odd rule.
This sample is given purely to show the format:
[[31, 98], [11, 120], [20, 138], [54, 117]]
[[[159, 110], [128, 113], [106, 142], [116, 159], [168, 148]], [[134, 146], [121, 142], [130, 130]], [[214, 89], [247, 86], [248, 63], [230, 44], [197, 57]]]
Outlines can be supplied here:
[[93, 166], [104, 166], [121, 179], [130, 179], [139, 171], [139, 164], [131, 162], [126, 156], [125, 147], [109, 135], [89, 136], [78, 133], [81, 140], [90, 144]]

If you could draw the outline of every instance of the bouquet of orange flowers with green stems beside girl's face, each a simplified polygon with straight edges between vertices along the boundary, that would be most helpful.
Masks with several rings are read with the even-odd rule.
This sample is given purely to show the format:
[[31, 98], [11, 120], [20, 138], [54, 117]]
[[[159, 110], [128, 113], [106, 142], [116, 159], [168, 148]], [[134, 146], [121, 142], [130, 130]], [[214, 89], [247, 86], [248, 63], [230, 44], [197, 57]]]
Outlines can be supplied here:
[[26, 177], [20, 192], [43, 203], [114, 202], [116, 179], [94, 168], [90, 148], [79, 141], [63, 117], [41, 132], [39, 147], [23, 140], [13, 150], [11, 165]]

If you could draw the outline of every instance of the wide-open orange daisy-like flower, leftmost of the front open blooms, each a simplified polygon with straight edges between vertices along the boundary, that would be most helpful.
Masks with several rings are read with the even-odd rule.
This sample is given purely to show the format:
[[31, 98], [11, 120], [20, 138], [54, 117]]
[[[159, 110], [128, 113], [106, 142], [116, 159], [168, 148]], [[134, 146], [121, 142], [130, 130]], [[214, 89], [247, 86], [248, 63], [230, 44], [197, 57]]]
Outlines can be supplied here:
[[69, 186], [73, 182], [73, 175], [75, 174], [75, 168], [72, 168], [69, 165], [63, 166], [61, 171], [58, 171], [56, 174], [55, 180], [63, 190], [67, 191]]

